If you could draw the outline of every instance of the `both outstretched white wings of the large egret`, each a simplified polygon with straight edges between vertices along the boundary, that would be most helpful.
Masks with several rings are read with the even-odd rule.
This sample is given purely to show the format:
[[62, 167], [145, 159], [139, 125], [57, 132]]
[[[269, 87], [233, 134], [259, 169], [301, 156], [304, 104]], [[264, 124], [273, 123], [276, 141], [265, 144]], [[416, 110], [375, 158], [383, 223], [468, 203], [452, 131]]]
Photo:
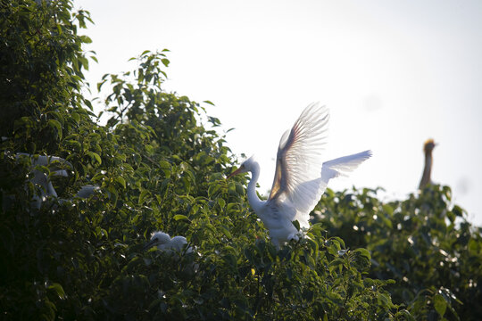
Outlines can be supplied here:
[[309, 214], [320, 201], [328, 181], [346, 175], [371, 156], [370, 151], [365, 151], [322, 163], [328, 119], [328, 109], [312, 103], [296, 120], [289, 136], [285, 133], [279, 142], [268, 202], [291, 208], [278, 212], [287, 219], [298, 220], [303, 227], [309, 226]]

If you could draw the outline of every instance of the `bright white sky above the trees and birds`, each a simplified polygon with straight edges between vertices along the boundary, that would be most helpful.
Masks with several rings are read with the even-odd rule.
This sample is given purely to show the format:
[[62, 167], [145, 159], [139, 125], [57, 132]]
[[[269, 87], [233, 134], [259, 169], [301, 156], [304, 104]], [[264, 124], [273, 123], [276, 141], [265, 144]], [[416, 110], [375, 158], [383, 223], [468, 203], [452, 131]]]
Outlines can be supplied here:
[[[482, 225], [482, 2], [79, 0], [99, 64], [87, 80], [131, 70], [167, 48], [165, 87], [210, 100], [233, 152], [256, 154], [270, 189], [279, 138], [314, 101], [331, 111], [327, 160], [374, 156], [335, 190], [416, 191], [432, 137], [434, 181]], [[95, 86], [93, 94], [96, 95]]]

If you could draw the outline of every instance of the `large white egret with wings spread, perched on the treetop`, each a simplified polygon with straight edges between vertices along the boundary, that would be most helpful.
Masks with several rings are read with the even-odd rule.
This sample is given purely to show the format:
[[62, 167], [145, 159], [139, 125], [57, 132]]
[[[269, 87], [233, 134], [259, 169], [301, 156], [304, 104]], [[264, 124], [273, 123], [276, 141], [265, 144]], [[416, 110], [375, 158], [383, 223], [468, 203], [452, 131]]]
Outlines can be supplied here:
[[323, 146], [327, 143], [328, 119], [328, 108], [312, 103], [304, 109], [293, 128], [281, 137], [274, 182], [267, 201], [261, 201], [255, 191], [260, 165], [253, 156], [229, 175], [251, 172], [248, 201], [270, 231], [271, 242], [278, 249], [281, 243], [298, 240], [294, 220], [303, 228], [310, 226], [310, 212], [320, 201], [328, 181], [346, 175], [371, 156], [370, 151], [365, 151], [321, 162]]

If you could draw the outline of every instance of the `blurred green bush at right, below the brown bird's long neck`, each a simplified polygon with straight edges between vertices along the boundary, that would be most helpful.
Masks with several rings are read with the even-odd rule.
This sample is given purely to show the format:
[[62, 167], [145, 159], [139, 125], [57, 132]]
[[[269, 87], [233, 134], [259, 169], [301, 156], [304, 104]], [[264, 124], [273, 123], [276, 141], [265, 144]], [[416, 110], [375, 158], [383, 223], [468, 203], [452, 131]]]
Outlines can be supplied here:
[[381, 202], [377, 190], [328, 190], [314, 221], [372, 257], [370, 277], [417, 319], [482, 316], [482, 229], [453, 205], [448, 186], [429, 185], [406, 200]]

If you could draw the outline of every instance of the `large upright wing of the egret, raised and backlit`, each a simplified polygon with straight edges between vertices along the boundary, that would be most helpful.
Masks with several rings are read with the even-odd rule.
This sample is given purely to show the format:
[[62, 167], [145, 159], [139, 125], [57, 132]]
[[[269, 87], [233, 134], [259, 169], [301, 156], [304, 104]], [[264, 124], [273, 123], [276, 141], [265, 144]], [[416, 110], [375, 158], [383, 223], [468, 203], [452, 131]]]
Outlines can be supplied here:
[[[289, 219], [308, 224], [307, 216], [320, 200], [321, 152], [327, 143], [328, 108], [312, 103], [290, 131], [281, 137], [276, 172], [268, 201], [289, 202], [295, 211]], [[287, 205], [287, 204], [285, 204]]]

